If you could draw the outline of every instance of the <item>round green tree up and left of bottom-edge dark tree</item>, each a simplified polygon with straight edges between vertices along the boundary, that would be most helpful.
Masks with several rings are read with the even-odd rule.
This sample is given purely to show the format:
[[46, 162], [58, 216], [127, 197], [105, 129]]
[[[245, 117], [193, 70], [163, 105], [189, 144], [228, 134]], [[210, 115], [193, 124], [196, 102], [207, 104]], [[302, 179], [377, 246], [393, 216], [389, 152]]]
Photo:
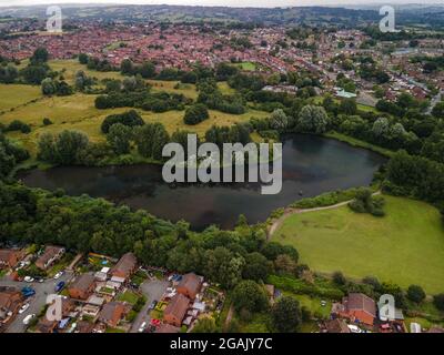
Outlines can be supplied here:
[[238, 312], [262, 312], [269, 306], [269, 297], [265, 290], [254, 281], [242, 281], [234, 287], [232, 294], [233, 306]]

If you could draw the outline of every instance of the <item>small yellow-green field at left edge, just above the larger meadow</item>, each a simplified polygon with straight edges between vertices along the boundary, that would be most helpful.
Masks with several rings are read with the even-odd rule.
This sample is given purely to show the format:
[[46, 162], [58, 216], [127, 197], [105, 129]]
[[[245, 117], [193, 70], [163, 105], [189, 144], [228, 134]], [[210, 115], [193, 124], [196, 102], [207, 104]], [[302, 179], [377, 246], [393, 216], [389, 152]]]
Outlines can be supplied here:
[[[40, 87], [0, 84], [0, 112], [17, 108], [41, 98]], [[3, 122], [0, 119], [0, 122]]]

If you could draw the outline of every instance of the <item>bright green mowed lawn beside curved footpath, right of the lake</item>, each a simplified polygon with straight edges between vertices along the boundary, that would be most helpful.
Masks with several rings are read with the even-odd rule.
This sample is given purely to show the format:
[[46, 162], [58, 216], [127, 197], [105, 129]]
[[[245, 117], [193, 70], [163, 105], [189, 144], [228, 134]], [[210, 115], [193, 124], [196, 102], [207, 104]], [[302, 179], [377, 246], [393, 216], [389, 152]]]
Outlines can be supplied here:
[[357, 214], [347, 206], [294, 214], [273, 240], [294, 245], [301, 262], [323, 273], [373, 275], [402, 287], [418, 284], [444, 292], [444, 224], [423, 202], [385, 196], [386, 216]]

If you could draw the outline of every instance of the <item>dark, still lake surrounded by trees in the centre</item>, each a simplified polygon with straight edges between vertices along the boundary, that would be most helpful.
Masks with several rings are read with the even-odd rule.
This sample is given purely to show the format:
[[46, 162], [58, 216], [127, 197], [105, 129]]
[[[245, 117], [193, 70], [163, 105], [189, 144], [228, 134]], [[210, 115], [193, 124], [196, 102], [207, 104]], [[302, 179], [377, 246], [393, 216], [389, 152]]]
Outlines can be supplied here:
[[[162, 166], [60, 166], [21, 172], [29, 186], [63, 189], [70, 195], [104, 197], [173, 222], [181, 219], [194, 230], [211, 224], [231, 229], [240, 214], [250, 223], [292, 202], [323, 192], [369, 185], [386, 161], [382, 155], [315, 135], [283, 138], [283, 184], [276, 195], [261, 195], [260, 183], [176, 184], [162, 180]], [[302, 192], [302, 195], [301, 195]]]

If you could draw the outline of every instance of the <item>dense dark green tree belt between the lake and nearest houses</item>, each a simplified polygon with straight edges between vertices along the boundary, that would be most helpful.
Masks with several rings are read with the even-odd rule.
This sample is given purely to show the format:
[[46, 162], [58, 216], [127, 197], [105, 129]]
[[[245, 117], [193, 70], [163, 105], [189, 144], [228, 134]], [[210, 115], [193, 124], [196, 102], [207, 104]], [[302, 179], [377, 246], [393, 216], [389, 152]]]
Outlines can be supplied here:
[[[235, 287], [243, 278], [264, 281], [280, 255], [297, 262], [297, 252], [291, 246], [269, 247], [271, 243], [258, 226], [242, 224], [234, 231], [209, 227], [195, 233], [183, 221], [172, 224], [101, 199], [0, 183], [0, 241], [7, 240], [54, 243], [75, 252], [112, 256], [134, 252], [147, 265], [195, 272], [224, 288]], [[276, 252], [282, 254], [276, 256]], [[263, 272], [255, 272], [264, 266]]]

